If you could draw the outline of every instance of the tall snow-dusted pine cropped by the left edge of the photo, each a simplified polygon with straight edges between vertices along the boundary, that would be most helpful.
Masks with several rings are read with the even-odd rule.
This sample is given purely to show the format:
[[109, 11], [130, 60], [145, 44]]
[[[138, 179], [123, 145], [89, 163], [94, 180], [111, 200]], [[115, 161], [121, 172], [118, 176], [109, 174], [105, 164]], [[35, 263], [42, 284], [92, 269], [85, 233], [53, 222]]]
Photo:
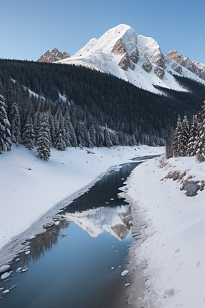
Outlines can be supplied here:
[[0, 95], [0, 154], [10, 151], [12, 146], [10, 122], [8, 120], [4, 97]]

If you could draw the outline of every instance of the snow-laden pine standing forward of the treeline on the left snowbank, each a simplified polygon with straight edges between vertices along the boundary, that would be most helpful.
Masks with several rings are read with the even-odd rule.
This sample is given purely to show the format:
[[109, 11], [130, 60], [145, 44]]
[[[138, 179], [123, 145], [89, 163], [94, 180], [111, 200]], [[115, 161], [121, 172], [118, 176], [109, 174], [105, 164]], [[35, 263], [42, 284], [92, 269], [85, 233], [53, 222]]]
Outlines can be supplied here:
[[38, 157], [43, 160], [48, 160], [51, 156], [51, 134], [49, 128], [49, 115], [46, 112], [40, 114], [36, 145]]

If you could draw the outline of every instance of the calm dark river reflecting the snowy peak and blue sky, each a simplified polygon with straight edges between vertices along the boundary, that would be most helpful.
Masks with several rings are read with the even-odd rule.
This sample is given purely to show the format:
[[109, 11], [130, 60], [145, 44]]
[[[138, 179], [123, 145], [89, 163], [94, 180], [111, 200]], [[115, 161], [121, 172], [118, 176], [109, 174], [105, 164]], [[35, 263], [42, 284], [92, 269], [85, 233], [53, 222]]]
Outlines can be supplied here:
[[9, 280], [0, 283], [1, 308], [126, 305], [128, 277], [120, 274], [133, 242], [132, 218], [118, 193], [138, 164], [133, 161], [109, 172], [61, 209], [45, 233], [27, 241], [28, 251], [12, 261]]

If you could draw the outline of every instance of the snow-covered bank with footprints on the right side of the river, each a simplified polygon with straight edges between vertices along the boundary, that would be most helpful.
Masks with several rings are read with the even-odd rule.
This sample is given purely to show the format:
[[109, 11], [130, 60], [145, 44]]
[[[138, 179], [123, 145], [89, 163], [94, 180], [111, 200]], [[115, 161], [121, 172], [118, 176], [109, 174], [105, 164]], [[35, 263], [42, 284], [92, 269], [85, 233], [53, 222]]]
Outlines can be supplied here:
[[[205, 307], [204, 180], [205, 162], [160, 157], [137, 166], [126, 181], [122, 196], [132, 206], [137, 239], [128, 275], [133, 307]], [[180, 190], [189, 182], [201, 188], [195, 196]]]

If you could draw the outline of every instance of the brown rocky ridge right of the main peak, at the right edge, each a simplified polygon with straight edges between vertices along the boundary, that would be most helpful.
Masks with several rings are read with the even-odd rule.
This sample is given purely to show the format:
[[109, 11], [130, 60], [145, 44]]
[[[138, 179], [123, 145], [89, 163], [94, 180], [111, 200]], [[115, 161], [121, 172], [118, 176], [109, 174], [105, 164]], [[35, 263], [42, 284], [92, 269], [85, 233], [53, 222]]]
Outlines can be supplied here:
[[[182, 55], [179, 55], [176, 50], [170, 51], [169, 53], [167, 53], [167, 57], [169, 57], [169, 59], [176, 62], [180, 66], [187, 68], [187, 70], [190, 70], [191, 73], [205, 80], [205, 65], [204, 64], [200, 62], [191, 62], [191, 60], [189, 60], [189, 57], [182, 57]], [[179, 66], [175, 66], [175, 70], [176, 72], [180, 73], [181, 68]]]

